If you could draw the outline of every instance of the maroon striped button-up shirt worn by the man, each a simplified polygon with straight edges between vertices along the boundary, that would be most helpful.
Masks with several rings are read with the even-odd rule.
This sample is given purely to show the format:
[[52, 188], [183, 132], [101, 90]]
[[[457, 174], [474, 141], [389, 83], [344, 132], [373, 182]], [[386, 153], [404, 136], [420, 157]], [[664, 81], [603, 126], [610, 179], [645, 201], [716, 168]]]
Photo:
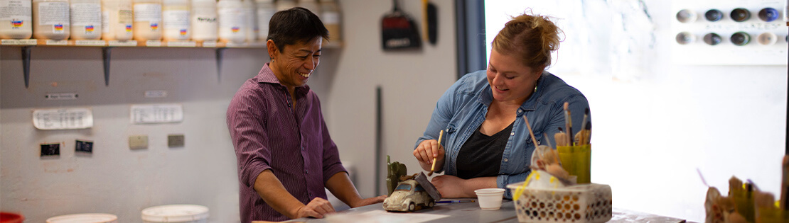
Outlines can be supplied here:
[[288, 220], [253, 188], [264, 170], [271, 170], [290, 195], [305, 204], [316, 197], [326, 199], [324, 183], [346, 171], [316, 94], [309, 86], [300, 86], [294, 97], [295, 111], [287, 88], [266, 64], [241, 85], [227, 108], [227, 128], [238, 163], [242, 223]]

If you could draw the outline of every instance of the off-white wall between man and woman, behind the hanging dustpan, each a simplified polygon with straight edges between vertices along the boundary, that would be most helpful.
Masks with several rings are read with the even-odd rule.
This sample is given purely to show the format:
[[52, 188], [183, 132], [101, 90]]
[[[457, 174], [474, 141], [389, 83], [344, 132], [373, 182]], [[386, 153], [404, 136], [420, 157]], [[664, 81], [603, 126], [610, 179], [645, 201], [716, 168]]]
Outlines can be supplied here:
[[[400, 1], [401, 8], [421, 31], [421, 2]], [[338, 144], [342, 160], [357, 169], [357, 188], [362, 196], [375, 194], [376, 86], [383, 94], [383, 155], [406, 163], [410, 174], [419, 165], [411, 152], [424, 132], [436, 101], [456, 80], [454, 2], [431, 1], [438, 8], [438, 42], [423, 42], [421, 50], [389, 52], [381, 49], [380, 22], [392, 9], [391, 1], [343, 0], [345, 46], [328, 92], [327, 125]], [[386, 166], [381, 166], [386, 177]], [[381, 181], [380, 191], [386, 193]]]

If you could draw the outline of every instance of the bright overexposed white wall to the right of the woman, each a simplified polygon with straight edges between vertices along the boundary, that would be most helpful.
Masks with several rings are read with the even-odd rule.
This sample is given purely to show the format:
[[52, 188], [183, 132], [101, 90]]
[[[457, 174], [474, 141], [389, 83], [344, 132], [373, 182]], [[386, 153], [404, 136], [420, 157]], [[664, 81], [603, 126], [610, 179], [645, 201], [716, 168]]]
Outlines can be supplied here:
[[696, 169], [721, 192], [735, 175], [780, 197], [787, 66], [673, 64], [671, 1], [488, 1], [488, 36], [526, 7], [567, 34], [549, 71], [589, 99], [592, 181], [614, 207], [704, 221]]

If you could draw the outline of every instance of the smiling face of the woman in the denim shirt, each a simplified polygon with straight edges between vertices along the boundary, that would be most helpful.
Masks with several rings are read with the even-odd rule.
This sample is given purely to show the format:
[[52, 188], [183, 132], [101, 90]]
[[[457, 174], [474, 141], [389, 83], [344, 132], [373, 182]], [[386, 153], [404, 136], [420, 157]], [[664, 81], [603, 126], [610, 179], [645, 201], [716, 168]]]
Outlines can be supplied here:
[[534, 92], [540, 75], [542, 69], [529, 68], [518, 57], [491, 51], [488, 83], [495, 101], [523, 104]]

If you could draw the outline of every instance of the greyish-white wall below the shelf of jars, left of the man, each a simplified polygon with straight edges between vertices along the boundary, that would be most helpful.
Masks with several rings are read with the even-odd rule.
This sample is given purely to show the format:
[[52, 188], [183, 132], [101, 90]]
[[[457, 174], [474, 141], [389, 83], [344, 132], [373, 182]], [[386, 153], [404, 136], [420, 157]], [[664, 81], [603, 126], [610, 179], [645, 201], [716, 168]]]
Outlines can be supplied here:
[[[227, 49], [221, 77], [214, 49], [112, 49], [104, 86], [100, 48], [35, 47], [30, 87], [24, 88], [21, 50], [0, 54], [0, 206], [28, 222], [62, 214], [109, 213], [139, 222], [146, 207], [189, 203], [209, 207], [211, 222], [238, 221], [238, 183], [225, 111], [241, 82], [268, 60], [263, 49]], [[165, 98], [144, 98], [166, 90]], [[46, 101], [45, 93], [79, 93]], [[183, 122], [129, 123], [130, 104], [183, 104]], [[85, 130], [36, 130], [35, 108], [92, 108]], [[185, 135], [168, 148], [167, 134]], [[148, 135], [148, 148], [130, 150], [129, 135]], [[94, 142], [92, 155], [74, 152], [76, 139]], [[39, 144], [62, 143], [61, 155], [39, 158]]]

